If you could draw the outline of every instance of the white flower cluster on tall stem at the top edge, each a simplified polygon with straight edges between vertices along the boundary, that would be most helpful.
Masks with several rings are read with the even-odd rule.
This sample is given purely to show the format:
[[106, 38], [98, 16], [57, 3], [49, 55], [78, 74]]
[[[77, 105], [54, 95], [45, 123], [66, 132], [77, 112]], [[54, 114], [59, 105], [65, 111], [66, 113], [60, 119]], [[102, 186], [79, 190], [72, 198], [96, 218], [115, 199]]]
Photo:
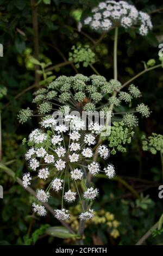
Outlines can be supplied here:
[[152, 29], [150, 16], [125, 1], [101, 2], [91, 13], [92, 15], [84, 20], [84, 25], [89, 25], [96, 31], [109, 31], [117, 26], [129, 28], [139, 25], [139, 33], [147, 35], [149, 29]]

